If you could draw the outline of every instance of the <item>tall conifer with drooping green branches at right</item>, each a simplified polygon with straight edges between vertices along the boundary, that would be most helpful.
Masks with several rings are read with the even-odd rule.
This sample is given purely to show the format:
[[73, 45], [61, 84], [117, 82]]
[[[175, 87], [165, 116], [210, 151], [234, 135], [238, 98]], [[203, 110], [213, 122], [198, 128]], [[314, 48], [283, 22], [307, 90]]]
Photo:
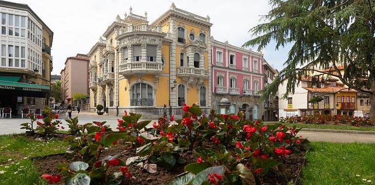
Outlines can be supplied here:
[[[366, 93], [375, 121], [375, 0], [269, 0], [272, 10], [262, 18], [267, 23], [250, 31], [255, 38], [244, 46], [266, 47], [276, 41], [276, 50], [292, 44], [288, 58], [265, 95], [274, 95], [286, 81], [286, 94], [294, 93], [301, 77], [321, 73], [335, 76], [350, 89]], [[344, 66], [340, 73], [338, 66]], [[366, 74], [364, 76], [364, 74]]]

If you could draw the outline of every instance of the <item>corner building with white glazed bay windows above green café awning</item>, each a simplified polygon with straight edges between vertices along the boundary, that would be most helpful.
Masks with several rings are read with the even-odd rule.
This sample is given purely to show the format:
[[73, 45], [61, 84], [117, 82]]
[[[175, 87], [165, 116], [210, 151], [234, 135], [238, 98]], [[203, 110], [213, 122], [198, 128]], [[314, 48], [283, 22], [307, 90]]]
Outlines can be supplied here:
[[53, 32], [27, 5], [0, 0], [0, 107], [48, 105]]

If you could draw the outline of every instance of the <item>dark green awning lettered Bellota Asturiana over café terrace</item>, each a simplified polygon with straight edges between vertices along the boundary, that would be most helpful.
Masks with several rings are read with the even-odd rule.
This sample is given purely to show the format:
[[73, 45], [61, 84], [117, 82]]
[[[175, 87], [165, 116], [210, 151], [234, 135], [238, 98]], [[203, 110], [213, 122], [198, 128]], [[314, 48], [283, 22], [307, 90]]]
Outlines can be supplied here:
[[49, 92], [50, 86], [0, 80], [0, 90], [15, 90], [22, 92]]

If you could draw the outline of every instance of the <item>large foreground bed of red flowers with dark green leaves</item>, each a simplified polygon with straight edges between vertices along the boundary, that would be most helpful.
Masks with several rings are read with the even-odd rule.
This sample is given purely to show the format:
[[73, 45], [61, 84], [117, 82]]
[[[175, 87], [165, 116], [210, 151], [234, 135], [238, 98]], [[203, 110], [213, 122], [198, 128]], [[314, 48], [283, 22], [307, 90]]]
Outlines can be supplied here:
[[242, 112], [205, 115], [196, 105], [183, 111], [178, 124], [162, 117], [152, 128], [125, 112], [118, 131], [105, 122], [67, 120], [74, 134], [67, 152], [36, 164], [50, 184], [68, 185], [286, 185], [298, 177], [309, 147], [299, 129], [251, 122]]

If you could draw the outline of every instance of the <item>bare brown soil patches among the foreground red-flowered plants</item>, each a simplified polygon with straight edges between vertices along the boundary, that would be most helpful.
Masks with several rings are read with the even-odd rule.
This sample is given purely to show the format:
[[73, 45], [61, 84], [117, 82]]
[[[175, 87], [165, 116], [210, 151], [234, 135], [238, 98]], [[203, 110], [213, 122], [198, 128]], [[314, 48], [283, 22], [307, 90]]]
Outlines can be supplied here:
[[[211, 147], [208, 147], [208, 145], [209, 143], [207, 143], [207, 148], [214, 146], [209, 145]], [[124, 162], [126, 162], [129, 157], [134, 157], [133, 150], [124, 150], [124, 146], [121, 145], [103, 150], [101, 156], [104, 158], [105, 156], [113, 156], [120, 152], [122, 152], [122, 154], [118, 158]], [[197, 159], [197, 157], [191, 151], [184, 152], [182, 157], [187, 160], [186, 164], [196, 162]], [[295, 182], [298, 178], [303, 161], [304, 152], [288, 156], [286, 159], [284, 159], [284, 165], [282, 169], [280, 169], [281, 172], [269, 171], [267, 176], [261, 178], [262, 185], [287, 185], [289, 181]], [[40, 175], [44, 173], [58, 174], [58, 170], [55, 168], [55, 166], [63, 162], [66, 162], [64, 154], [49, 155], [35, 159], [35, 164], [38, 167]], [[125, 179], [121, 185], [165, 185], [175, 176], [183, 173], [184, 166], [186, 164], [180, 165], [176, 163], [171, 170], [166, 170], [158, 166], [157, 172], [153, 174], [144, 169], [141, 170], [137, 166], [129, 165], [128, 168], [132, 177], [131, 179]], [[109, 173], [112, 174], [113, 172], [118, 171], [120, 171], [120, 169], [118, 166], [116, 166], [110, 169]], [[65, 178], [65, 176], [61, 177], [60, 185], [64, 184], [63, 182], [65, 181]]]

